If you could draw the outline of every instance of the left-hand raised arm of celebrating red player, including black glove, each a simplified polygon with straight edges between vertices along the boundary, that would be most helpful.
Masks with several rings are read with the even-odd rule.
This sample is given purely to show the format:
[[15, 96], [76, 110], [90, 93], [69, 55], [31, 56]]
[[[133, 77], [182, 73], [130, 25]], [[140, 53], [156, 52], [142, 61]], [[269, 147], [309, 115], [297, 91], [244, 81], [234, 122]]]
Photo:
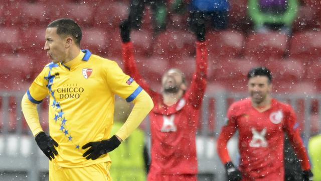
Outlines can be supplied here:
[[123, 21], [119, 28], [122, 40], [122, 57], [125, 65], [124, 72], [134, 78], [135, 81], [151, 96], [151, 98], [154, 98], [157, 93], [152, 91], [146, 80], [139, 73], [135, 63], [133, 44], [130, 41], [130, 22], [128, 20]]

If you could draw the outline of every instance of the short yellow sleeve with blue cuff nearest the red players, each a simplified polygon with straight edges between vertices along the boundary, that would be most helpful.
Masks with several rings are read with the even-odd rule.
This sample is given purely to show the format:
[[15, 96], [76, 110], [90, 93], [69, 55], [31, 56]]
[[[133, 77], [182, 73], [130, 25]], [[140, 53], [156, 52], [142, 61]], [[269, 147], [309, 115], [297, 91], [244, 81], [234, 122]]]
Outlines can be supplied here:
[[106, 68], [106, 81], [112, 92], [127, 102], [133, 101], [142, 88], [126, 75], [116, 62], [110, 61]]

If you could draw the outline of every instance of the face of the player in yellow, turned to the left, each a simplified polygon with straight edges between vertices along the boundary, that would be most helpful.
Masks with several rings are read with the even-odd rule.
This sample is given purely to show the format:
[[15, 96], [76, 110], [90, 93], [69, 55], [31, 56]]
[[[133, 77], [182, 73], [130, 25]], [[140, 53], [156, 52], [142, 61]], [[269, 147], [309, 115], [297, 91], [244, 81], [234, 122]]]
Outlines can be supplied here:
[[44, 50], [47, 51], [47, 55], [54, 63], [61, 62], [65, 59], [65, 41], [57, 34], [57, 28], [46, 29], [46, 43]]

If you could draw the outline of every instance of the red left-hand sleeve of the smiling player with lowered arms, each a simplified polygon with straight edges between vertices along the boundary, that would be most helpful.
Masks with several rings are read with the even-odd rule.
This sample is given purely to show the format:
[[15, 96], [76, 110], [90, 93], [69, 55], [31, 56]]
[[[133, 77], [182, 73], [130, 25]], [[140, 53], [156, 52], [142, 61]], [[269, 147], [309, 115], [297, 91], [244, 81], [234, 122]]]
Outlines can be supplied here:
[[217, 152], [223, 164], [231, 161], [227, 150], [227, 142], [234, 135], [237, 129], [236, 118], [233, 116], [233, 105], [229, 108], [227, 113], [226, 124], [222, 127], [219, 138], [217, 139]]

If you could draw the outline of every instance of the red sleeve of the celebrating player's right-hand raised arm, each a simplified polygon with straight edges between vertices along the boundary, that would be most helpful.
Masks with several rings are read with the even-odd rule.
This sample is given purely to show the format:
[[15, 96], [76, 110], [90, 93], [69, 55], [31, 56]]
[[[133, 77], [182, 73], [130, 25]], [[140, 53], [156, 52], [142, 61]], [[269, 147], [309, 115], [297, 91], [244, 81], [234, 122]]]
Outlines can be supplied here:
[[196, 42], [196, 71], [193, 74], [192, 83], [186, 92], [194, 108], [200, 108], [206, 88], [207, 74], [207, 49], [205, 42]]

